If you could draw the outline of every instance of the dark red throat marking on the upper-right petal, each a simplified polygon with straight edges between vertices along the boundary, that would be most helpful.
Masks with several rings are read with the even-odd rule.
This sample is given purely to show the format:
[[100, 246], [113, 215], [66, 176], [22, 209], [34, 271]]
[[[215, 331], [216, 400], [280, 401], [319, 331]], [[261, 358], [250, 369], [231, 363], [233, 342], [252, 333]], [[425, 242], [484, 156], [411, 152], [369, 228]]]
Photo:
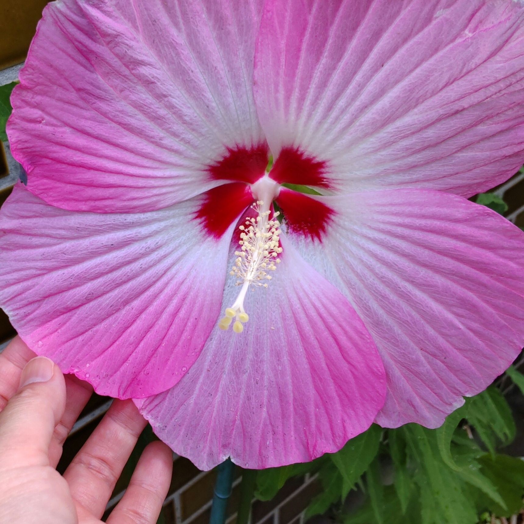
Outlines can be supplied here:
[[296, 148], [286, 147], [280, 151], [269, 176], [280, 184], [301, 184], [329, 188], [325, 177], [326, 163], [307, 156]]

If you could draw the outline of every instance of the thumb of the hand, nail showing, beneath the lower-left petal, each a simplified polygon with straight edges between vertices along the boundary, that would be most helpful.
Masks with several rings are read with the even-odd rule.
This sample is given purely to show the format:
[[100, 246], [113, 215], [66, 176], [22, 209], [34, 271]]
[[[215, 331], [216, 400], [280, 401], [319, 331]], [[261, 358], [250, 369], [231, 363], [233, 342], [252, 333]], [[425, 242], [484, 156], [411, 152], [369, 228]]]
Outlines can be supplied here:
[[46, 357], [30, 360], [20, 387], [0, 413], [0, 463], [49, 464], [49, 444], [65, 409], [65, 380]]

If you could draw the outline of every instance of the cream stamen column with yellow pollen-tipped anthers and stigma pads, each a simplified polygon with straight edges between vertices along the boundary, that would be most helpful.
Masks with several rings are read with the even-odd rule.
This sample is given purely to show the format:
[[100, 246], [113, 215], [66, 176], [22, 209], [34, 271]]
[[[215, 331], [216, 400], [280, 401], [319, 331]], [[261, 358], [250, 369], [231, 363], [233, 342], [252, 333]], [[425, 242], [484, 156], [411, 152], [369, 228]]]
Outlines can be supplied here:
[[278, 255], [282, 253], [280, 247], [280, 223], [277, 220], [279, 213], [270, 218], [269, 206], [257, 200], [252, 208], [256, 217], [249, 217], [239, 226], [241, 231], [239, 245], [241, 250], [235, 251], [235, 259], [230, 275], [237, 278], [236, 285], [242, 286], [238, 297], [231, 306], [224, 311], [224, 318], [219, 322], [221, 330], [227, 330], [233, 319], [233, 331], [242, 333], [249, 315], [244, 311], [244, 299], [250, 286], [268, 287], [271, 276], [267, 271], [275, 271], [280, 263]]

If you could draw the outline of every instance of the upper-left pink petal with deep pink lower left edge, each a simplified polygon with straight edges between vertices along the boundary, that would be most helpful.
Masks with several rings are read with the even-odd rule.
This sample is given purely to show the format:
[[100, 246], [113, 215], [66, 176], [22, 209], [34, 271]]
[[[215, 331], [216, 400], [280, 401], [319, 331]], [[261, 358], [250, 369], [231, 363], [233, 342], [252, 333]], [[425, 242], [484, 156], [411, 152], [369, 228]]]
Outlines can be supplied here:
[[219, 185], [212, 166], [264, 143], [252, 91], [262, 4], [49, 4], [8, 124], [29, 190], [105, 213], [161, 209]]

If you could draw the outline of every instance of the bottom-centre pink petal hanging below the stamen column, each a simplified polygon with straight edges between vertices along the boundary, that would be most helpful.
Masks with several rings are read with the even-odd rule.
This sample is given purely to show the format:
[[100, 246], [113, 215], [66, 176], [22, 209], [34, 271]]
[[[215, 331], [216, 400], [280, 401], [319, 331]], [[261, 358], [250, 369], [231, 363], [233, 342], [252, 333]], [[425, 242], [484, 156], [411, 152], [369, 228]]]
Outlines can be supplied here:
[[[215, 329], [176, 387], [136, 401], [157, 435], [202, 470], [228, 456], [249, 468], [310, 461], [366, 430], [383, 405], [383, 367], [361, 320], [283, 247], [268, 289], [248, 293], [244, 332]], [[234, 282], [223, 308], [238, 294]]]

